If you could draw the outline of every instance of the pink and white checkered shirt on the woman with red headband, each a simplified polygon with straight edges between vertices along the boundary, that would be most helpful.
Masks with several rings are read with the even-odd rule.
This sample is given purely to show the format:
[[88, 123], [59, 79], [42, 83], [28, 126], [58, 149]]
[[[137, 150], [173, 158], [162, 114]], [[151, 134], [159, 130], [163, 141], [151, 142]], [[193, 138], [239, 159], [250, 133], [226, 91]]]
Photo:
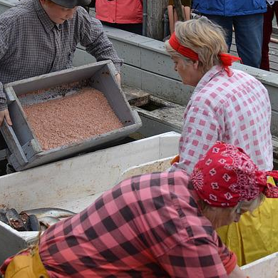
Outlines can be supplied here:
[[185, 109], [180, 162], [173, 168], [192, 173], [194, 165], [217, 140], [236, 145], [260, 170], [272, 170], [271, 105], [267, 89], [256, 78], [213, 66], [202, 77]]

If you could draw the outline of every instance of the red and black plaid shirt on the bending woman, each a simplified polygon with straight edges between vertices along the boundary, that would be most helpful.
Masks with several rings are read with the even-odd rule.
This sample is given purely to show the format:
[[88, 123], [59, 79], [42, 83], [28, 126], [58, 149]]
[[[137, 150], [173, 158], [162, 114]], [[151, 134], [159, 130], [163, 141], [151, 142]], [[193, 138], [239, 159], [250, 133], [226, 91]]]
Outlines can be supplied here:
[[131, 177], [44, 232], [50, 277], [227, 277], [231, 254], [182, 170]]

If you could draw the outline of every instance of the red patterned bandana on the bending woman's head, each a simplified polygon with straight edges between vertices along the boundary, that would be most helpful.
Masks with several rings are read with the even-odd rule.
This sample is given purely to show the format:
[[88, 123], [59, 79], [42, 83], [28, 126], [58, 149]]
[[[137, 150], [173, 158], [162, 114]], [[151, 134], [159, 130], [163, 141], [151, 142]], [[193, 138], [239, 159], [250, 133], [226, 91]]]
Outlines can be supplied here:
[[195, 165], [191, 179], [207, 204], [235, 207], [240, 201], [254, 200], [260, 192], [277, 198], [278, 187], [267, 183], [268, 175], [278, 178], [278, 171], [260, 171], [244, 150], [217, 142]]

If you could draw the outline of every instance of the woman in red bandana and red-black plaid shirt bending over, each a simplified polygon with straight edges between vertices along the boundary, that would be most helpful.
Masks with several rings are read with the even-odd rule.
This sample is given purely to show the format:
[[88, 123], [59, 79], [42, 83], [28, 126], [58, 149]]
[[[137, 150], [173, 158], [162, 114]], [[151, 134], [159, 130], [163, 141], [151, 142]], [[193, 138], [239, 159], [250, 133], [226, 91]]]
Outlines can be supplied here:
[[[5, 277], [246, 277], [217, 227], [278, 187], [241, 148], [217, 142], [195, 166], [123, 180], [9, 258]], [[27, 274], [28, 273], [28, 274]]]

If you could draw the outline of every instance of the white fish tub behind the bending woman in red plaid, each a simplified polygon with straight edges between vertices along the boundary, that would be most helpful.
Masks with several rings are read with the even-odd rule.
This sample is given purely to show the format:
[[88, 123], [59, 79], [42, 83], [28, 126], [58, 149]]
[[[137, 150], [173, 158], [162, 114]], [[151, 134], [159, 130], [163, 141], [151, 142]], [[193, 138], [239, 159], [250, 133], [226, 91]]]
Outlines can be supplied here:
[[[120, 180], [126, 169], [177, 153], [179, 133], [163, 133], [0, 177], [0, 204], [17, 211], [61, 207], [80, 212]], [[0, 222], [0, 263], [36, 240]]]

